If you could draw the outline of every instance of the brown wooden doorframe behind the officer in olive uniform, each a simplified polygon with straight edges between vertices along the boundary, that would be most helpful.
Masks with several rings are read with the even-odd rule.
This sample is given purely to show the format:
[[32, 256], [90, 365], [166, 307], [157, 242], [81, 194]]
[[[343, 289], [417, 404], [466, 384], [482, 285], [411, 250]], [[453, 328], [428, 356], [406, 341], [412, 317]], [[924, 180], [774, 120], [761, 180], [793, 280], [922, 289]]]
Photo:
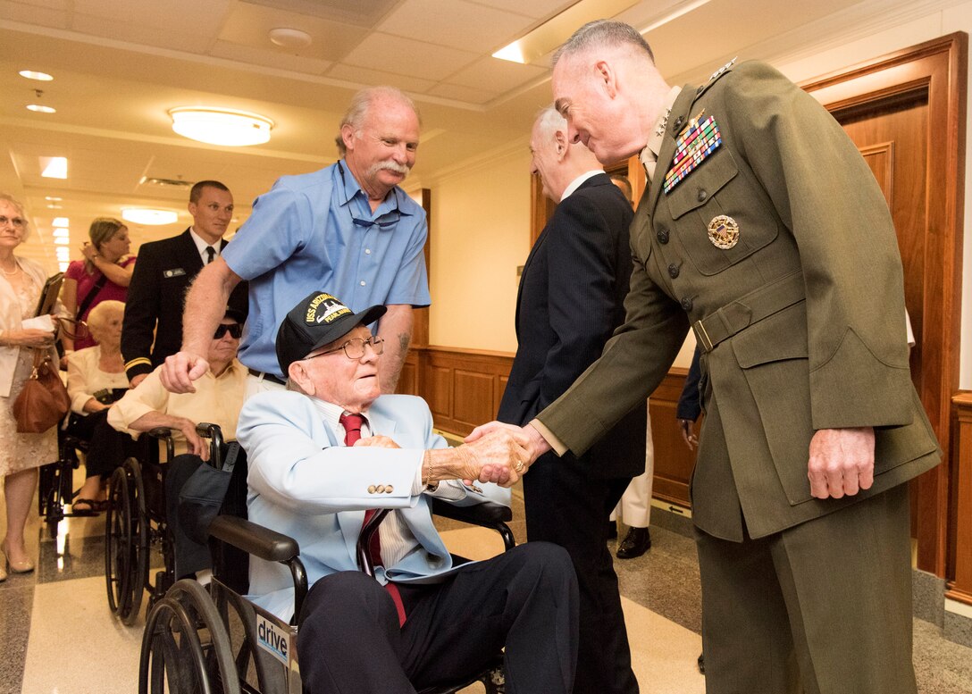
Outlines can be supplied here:
[[952, 398], [958, 390], [965, 172], [968, 36], [956, 32], [889, 53], [801, 85], [835, 115], [916, 90], [927, 94], [925, 258], [920, 397], [944, 453], [922, 475], [918, 495], [918, 567], [946, 577]]

